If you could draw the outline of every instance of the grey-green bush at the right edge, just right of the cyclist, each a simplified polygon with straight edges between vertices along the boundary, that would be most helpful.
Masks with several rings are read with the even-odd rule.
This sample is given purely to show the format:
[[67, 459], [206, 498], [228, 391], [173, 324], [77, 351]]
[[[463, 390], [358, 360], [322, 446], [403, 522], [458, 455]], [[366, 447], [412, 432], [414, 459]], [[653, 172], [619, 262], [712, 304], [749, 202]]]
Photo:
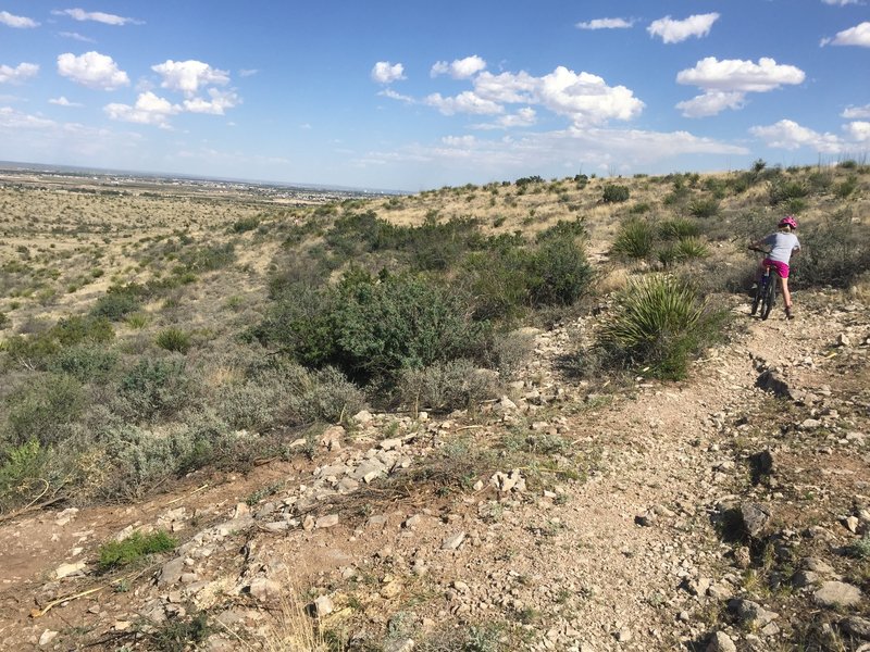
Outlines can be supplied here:
[[798, 231], [800, 253], [792, 259], [797, 287], [847, 287], [870, 268], [870, 233], [843, 211]]

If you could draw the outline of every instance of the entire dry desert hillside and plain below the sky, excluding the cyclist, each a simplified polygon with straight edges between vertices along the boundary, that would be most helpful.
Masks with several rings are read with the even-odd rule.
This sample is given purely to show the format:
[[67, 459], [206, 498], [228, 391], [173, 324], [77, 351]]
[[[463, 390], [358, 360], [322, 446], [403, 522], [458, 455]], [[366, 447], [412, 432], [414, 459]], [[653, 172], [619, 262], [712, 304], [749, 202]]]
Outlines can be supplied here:
[[[796, 318], [750, 240], [797, 216]], [[870, 165], [0, 170], [16, 650], [870, 649]]]

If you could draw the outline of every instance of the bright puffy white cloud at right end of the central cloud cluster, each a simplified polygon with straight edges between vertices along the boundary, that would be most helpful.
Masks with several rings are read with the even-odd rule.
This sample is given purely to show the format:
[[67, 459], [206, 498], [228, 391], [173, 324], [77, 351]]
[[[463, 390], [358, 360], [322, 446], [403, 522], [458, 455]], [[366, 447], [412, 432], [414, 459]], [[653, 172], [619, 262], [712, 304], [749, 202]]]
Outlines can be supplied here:
[[575, 125], [631, 120], [644, 109], [644, 103], [624, 86], [611, 87], [597, 75], [576, 74], [564, 66], [542, 77], [536, 95], [544, 106], [571, 117]]

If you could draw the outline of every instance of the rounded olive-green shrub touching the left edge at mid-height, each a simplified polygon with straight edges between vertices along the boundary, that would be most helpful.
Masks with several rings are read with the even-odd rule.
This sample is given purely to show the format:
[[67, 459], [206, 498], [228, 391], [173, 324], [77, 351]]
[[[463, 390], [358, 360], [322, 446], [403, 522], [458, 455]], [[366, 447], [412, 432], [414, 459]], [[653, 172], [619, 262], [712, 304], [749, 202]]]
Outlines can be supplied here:
[[42, 447], [62, 440], [85, 406], [82, 384], [66, 374], [38, 374], [7, 399], [7, 440], [21, 446], [32, 439]]

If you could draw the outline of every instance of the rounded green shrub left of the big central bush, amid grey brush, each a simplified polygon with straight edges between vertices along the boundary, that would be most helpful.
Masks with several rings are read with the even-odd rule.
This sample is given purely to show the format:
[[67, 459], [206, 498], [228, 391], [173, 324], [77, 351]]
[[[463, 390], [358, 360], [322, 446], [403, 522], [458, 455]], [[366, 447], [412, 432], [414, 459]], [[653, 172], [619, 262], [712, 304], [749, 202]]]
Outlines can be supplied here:
[[183, 360], [140, 360], [122, 378], [117, 393], [135, 418], [170, 417], [195, 393]]

